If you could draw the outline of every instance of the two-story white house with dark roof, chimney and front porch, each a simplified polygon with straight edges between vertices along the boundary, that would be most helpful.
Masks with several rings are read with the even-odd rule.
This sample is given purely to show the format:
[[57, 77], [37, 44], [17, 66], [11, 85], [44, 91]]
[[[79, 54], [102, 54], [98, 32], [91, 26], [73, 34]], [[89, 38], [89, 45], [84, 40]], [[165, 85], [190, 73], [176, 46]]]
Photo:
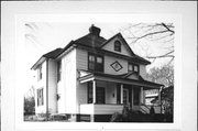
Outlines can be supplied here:
[[145, 90], [162, 85], [145, 80], [148, 61], [133, 53], [121, 33], [106, 40], [100, 29], [44, 54], [37, 72], [35, 112], [64, 113], [76, 121], [99, 121], [127, 105], [147, 112]]

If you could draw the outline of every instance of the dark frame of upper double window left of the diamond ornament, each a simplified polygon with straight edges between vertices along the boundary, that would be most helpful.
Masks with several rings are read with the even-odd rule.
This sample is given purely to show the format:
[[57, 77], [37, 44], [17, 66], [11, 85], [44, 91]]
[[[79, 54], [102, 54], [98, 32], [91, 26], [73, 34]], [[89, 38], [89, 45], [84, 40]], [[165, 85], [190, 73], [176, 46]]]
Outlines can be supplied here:
[[[94, 61], [90, 61], [89, 58], [90, 56], [94, 57]], [[102, 59], [101, 63], [97, 63], [98, 57]], [[90, 68], [91, 64], [92, 64], [92, 68]], [[88, 70], [103, 73], [103, 56], [94, 53], [88, 53]]]

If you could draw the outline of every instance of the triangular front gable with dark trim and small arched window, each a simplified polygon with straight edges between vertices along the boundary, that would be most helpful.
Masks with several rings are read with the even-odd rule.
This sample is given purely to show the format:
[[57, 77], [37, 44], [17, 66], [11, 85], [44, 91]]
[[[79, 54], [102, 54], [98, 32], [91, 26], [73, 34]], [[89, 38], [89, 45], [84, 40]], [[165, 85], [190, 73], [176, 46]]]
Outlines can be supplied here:
[[129, 44], [125, 42], [121, 33], [116, 34], [114, 36], [106, 41], [101, 45], [101, 48], [117, 54], [134, 56], [133, 51], [130, 48]]

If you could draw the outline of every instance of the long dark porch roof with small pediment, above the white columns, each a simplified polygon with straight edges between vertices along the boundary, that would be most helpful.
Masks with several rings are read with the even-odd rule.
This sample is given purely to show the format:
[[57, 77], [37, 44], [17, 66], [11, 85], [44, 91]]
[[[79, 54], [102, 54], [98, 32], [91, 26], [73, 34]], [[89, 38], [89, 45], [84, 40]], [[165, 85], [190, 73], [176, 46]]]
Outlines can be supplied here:
[[78, 79], [81, 84], [91, 81], [91, 80], [102, 80], [102, 81], [141, 86], [141, 87], [144, 87], [144, 89], [158, 89], [163, 86], [161, 84], [144, 80], [141, 76], [139, 79], [131, 79], [123, 76], [125, 75], [111, 75], [111, 74], [103, 74], [103, 73], [98, 73], [98, 72], [97, 73], [87, 72], [87, 74], [84, 74]]

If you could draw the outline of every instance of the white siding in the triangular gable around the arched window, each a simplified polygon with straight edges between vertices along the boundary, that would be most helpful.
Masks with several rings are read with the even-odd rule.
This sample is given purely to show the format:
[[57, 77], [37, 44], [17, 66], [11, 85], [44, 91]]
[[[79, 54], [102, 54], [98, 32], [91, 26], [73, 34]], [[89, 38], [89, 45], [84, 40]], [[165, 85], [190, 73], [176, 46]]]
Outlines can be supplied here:
[[[121, 42], [121, 52], [114, 51], [114, 42], [116, 42], [117, 40]], [[107, 50], [107, 51], [110, 51], [110, 52], [118, 53], [118, 54], [131, 56], [130, 52], [127, 50], [128, 47], [122, 43], [121, 40], [119, 40], [118, 36], [114, 37], [113, 40], [111, 40], [109, 43], [107, 43], [102, 48], [103, 48], [103, 50]]]

